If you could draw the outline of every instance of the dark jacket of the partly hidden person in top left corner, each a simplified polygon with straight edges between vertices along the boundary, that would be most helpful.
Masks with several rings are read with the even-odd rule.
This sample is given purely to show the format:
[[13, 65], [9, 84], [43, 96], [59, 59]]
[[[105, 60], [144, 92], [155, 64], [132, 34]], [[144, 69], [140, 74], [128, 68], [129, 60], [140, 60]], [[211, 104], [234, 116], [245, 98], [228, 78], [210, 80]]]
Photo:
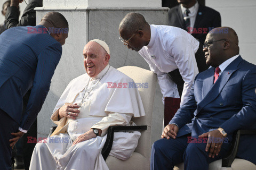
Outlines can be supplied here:
[[19, 26], [36, 25], [36, 11], [34, 8], [39, 6], [43, 6], [42, 0], [31, 0], [26, 6], [20, 21], [18, 8], [9, 6], [5, 14], [7, 29]]

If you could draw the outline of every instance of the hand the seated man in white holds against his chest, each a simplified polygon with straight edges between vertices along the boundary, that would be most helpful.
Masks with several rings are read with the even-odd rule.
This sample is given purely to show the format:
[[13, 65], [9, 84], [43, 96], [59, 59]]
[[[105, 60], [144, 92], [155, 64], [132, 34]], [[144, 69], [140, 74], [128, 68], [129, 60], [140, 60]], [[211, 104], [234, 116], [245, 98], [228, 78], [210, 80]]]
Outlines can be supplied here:
[[80, 112], [78, 110], [79, 107], [80, 106], [78, 106], [77, 104], [74, 104], [74, 105], [73, 104], [65, 104], [64, 106], [62, 106], [59, 109], [59, 118], [70, 117], [70, 118], [73, 118], [75, 120], [76, 116]]

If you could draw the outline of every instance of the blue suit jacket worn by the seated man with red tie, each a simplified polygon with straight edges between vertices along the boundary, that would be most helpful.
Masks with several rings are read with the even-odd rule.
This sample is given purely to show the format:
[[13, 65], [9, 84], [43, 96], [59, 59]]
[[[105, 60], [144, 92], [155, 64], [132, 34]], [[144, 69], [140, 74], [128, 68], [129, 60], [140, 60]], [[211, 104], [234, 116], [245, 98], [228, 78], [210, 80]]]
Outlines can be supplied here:
[[[179, 126], [178, 137], [221, 127], [232, 140], [236, 130], [256, 129], [256, 66], [239, 56], [213, 84], [214, 69], [196, 76], [186, 103], [170, 121]], [[255, 135], [243, 135], [237, 156], [256, 164], [255, 141]]]

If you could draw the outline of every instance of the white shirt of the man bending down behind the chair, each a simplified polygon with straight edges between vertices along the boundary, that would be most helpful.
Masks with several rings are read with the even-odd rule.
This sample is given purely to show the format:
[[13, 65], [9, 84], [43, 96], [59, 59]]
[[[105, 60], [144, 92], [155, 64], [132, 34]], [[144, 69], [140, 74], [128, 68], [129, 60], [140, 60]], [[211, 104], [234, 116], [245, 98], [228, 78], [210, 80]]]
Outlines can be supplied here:
[[195, 59], [199, 42], [187, 31], [167, 25], [150, 25], [151, 38], [139, 54], [149, 64], [150, 70], [157, 74], [158, 83], [164, 97], [179, 98], [177, 85], [167, 73], [179, 69], [185, 81], [181, 96], [184, 103], [198, 73]]

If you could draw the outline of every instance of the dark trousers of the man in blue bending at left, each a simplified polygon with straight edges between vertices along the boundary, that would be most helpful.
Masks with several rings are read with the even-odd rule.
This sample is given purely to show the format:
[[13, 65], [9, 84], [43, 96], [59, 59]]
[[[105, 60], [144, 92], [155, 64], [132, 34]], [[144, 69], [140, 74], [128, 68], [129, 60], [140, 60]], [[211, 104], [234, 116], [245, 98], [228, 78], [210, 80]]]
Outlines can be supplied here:
[[11, 133], [18, 132], [19, 124], [2, 109], [0, 109], [0, 129], [0, 167], [4, 170], [11, 170], [12, 148], [9, 140], [14, 138]]

